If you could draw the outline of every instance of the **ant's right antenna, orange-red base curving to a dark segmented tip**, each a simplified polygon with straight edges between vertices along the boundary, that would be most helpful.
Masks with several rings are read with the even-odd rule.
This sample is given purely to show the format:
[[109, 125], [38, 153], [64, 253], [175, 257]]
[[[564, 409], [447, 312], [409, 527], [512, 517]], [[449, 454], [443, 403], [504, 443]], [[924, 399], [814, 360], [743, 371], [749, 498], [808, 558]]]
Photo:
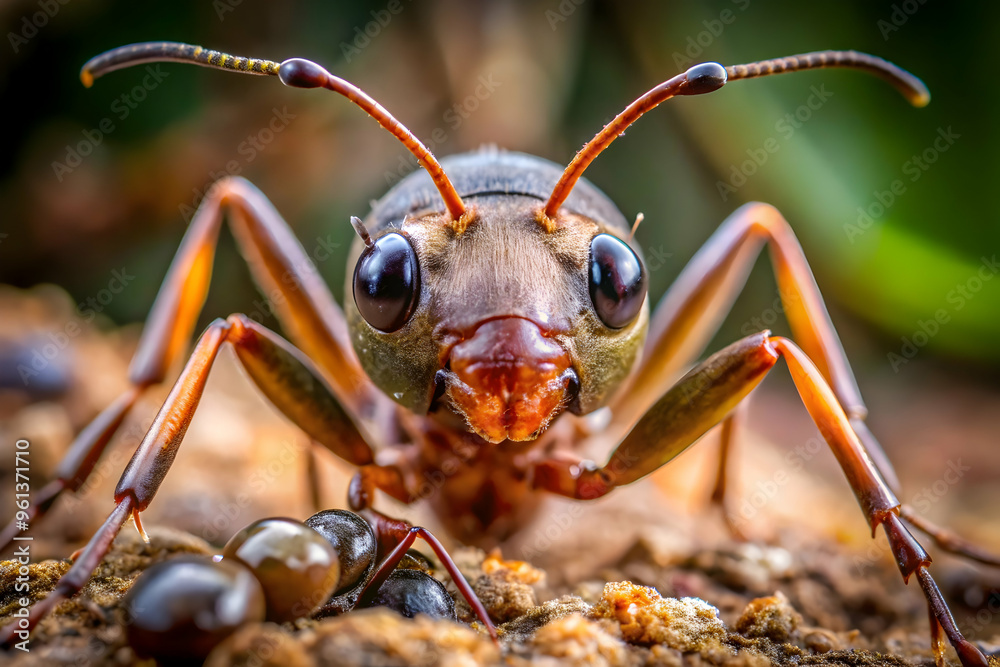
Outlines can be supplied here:
[[[576, 182], [583, 175], [594, 158], [601, 154], [611, 142], [621, 136], [625, 129], [637, 121], [647, 111], [654, 109], [676, 95], [703, 95], [722, 88], [727, 81], [753, 79], [771, 74], [798, 72], [807, 69], [843, 67], [859, 69], [884, 79], [892, 84], [915, 107], [926, 106], [931, 94], [923, 81], [887, 60], [859, 53], [858, 51], [816, 51], [787, 58], [762, 60], [746, 65], [723, 67], [718, 63], [694, 65], [686, 72], [664, 81], [628, 105], [615, 119], [604, 126], [569, 163], [549, 195], [542, 215], [551, 220], [563, 205]], [[547, 227], [555, 227], [550, 223]]]

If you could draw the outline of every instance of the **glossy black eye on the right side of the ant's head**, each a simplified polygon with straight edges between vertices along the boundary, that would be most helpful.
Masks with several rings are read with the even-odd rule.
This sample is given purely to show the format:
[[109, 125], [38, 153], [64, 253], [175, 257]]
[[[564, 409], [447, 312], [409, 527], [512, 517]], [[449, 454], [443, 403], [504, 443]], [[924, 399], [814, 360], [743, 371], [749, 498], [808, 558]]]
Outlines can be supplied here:
[[628, 244], [611, 234], [590, 242], [590, 300], [608, 327], [621, 329], [639, 315], [646, 272]]

